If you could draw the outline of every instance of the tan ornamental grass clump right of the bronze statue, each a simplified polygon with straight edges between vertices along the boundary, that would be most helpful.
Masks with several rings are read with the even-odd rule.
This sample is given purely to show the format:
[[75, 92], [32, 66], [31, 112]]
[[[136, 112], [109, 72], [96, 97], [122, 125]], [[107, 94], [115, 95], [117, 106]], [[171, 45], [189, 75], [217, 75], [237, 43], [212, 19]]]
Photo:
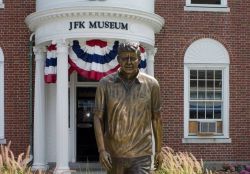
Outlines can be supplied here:
[[163, 164], [155, 174], [212, 174], [204, 168], [202, 160], [199, 162], [193, 154], [177, 152], [169, 147], [163, 148]]

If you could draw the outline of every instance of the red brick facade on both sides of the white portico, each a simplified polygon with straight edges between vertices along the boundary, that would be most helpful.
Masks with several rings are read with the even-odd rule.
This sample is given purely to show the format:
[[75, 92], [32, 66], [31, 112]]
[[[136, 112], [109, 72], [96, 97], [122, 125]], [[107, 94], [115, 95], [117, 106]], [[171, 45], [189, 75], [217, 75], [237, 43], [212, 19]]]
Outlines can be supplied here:
[[[35, 1], [5, 0], [0, 9], [0, 47], [5, 56], [5, 133], [16, 153], [29, 144], [30, 32], [24, 24]], [[184, 11], [185, 0], [157, 0], [166, 24], [157, 35], [155, 75], [163, 99], [164, 142], [204, 160], [250, 160], [250, 1], [229, 0], [230, 13]], [[215, 38], [230, 54], [231, 144], [182, 144], [183, 59], [189, 44]]]

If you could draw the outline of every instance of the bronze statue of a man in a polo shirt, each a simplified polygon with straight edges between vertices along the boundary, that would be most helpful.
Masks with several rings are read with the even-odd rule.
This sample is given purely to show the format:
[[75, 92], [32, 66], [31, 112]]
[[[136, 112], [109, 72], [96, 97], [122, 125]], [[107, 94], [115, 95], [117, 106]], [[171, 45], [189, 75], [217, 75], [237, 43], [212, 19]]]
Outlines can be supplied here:
[[139, 72], [139, 44], [121, 43], [117, 60], [120, 69], [101, 79], [96, 91], [94, 126], [99, 160], [110, 174], [148, 174], [152, 130], [155, 168], [162, 163], [159, 84]]

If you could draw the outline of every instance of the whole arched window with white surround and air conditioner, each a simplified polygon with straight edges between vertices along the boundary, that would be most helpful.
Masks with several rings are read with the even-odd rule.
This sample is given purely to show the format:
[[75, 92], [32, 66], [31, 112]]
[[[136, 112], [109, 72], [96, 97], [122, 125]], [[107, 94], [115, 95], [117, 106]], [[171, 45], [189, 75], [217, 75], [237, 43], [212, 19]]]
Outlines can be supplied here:
[[184, 56], [183, 143], [230, 143], [229, 54], [218, 41], [193, 42]]

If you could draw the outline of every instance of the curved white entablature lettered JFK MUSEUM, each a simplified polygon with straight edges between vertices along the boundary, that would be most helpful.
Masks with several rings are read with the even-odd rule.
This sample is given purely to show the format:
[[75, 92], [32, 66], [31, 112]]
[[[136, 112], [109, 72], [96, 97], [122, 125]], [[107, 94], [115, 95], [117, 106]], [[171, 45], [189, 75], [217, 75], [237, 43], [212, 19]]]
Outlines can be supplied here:
[[[52, 2], [49, 4], [55, 4]], [[80, 1], [77, 2], [76, 4], [79, 4]], [[95, 38], [104, 40], [134, 40], [143, 43], [145, 46], [154, 47], [155, 33], [158, 33], [164, 25], [164, 19], [154, 14], [152, 10], [147, 12], [141, 9], [116, 7], [116, 3], [112, 6], [111, 2], [107, 6], [102, 4], [101, 1], [99, 6], [86, 6], [86, 1], [82, 3], [84, 2], [85, 5], [82, 6], [76, 6], [76, 4], [71, 2], [74, 5], [42, 8], [44, 10], [40, 9], [30, 14], [25, 22], [30, 30], [35, 32], [36, 44], [47, 44], [47, 42], [62, 38], [67, 40]], [[38, 3], [41, 2], [38, 1]], [[134, 4], [131, 4], [131, 7], [135, 7]], [[74, 22], [82, 24], [71, 30], [70, 25]], [[93, 24], [95, 22], [101, 24], [106, 22], [109, 25], [97, 28], [89, 27], [90, 23]], [[122, 24], [126, 26], [126, 29], [116, 27], [116, 24]]]

